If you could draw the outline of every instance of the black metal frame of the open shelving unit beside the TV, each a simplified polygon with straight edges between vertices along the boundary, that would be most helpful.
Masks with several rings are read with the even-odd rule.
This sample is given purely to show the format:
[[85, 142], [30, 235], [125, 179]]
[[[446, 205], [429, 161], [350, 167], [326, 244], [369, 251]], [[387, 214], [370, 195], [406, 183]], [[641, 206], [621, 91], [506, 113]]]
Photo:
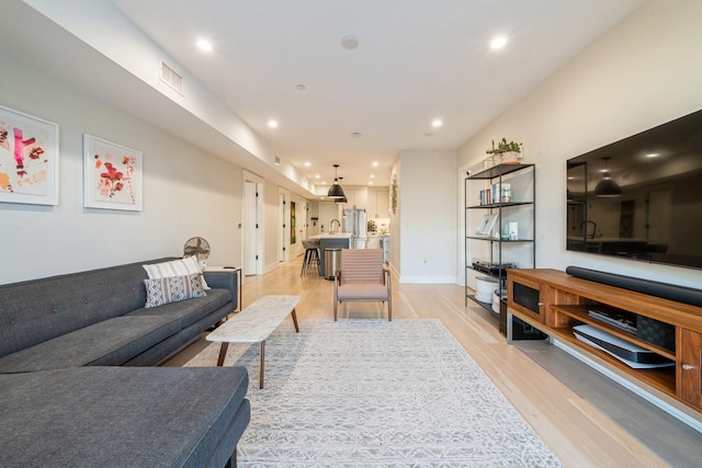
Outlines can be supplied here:
[[[521, 179], [522, 176], [530, 179]], [[489, 201], [483, 199], [487, 203], [472, 203], [472, 196], [476, 196], [480, 191], [495, 187], [496, 184], [500, 189], [503, 184], [513, 181], [520, 181], [519, 190], [512, 191], [509, 199], [502, 198], [501, 193], [497, 199], [490, 197]], [[465, 285], [465, 305], [468, 305], [468, 300], [473, 300], [480, 305], [485, 309], [492, 313], [492, 303], [483, 303], [476, 299], [474, 294], [471, 294], [468, 286], [468, 272], [476, 271], [483, 275], [496, 278], [500, 289], [506, 287], [507, 283], [507, 269], [517, 267], [513, 263], [513, 259], [510, 259], [509, 247], [510, 246], [529, 246], [531, 248], [531, 261], [521, 262], [518, 267], [535, 267], [536, 259], [536, 243], [534, 241], [535, 227], [536, 227], [536, 173], [534, 164], [497, 164], [489, 169], [485, 169], [475, 174], [471, 174], [465, 179], [465, 269], [466, 269], [466, 285]], [[478, 197], [480, 201], [480, 197]], [[510, 240], [503, 238], [502, 227], [506, 222], [512, 219], [517, 212], [528, 209], [531, 212], [531, 227], [529, 236], [525, 238], [519, 237], [517, 240]], [[490, 236], [478, 236], [471, 228], [475, 224], [475, 217], [483, 214], [497, 215], [497, 232], [498, 237], [494, 236], [495, 229]], [[523, 219], [524, 214], [521, 214]], [[529, 216], [529, 214], [526, 214]], [[484, 261], [478, 263], [474, 262], [471, 244], [475, 242], [487, 242], [489, 244], [489, 255]], [[499, 311], [500, 332], [507, 332], [507, 301], [500, 301]]]

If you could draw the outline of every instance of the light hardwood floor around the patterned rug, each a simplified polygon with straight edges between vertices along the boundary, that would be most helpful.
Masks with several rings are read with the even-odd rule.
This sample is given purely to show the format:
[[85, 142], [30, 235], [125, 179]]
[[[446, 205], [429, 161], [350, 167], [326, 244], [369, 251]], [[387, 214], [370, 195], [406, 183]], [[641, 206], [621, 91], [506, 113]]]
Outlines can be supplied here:
[[[268, 294], [301, 295], [297, 317], [332, 317], [332, 282], [301, 275], [302, 258], [262, 276], [247, 276], [242, 303]], [[393, 279], [393, 319], [439, 318], [534, 427], [566, 467], [700, 467], [702, 434], [546, 341], [508, 345], [497, 320], [464, 306], [456, 285], [399, 285]], [[386, 317], [380, 305], [351, 303], [344, 317]], [[165, 365], [181, 366], [204, 340]]]

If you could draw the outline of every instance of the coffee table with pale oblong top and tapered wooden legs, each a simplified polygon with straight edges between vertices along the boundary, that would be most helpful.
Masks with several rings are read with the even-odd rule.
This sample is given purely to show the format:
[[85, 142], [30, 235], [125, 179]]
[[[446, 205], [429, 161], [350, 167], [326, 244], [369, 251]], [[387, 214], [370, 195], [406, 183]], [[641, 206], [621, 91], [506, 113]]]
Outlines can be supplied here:
[[295, 331], [299, 332], [295, 307], [299, 296], [263, 296], [245, 308], [206, 336], [207, 341], [222, 343], [217, 366], [224, 364], [229, 343], [261, 343], [261, 375], [259, 388], [263, 388], [265, 363], [265, 339], [288, 315], [293, 318]]

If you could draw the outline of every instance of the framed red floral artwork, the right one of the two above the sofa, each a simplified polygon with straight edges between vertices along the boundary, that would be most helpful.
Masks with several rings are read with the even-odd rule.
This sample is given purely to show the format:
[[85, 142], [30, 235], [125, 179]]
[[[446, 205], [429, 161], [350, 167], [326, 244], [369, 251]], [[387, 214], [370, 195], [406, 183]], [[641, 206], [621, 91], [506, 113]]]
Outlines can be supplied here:
[[83, 135], [83, 206], [141, 210], [143, 155], [92, 135]]

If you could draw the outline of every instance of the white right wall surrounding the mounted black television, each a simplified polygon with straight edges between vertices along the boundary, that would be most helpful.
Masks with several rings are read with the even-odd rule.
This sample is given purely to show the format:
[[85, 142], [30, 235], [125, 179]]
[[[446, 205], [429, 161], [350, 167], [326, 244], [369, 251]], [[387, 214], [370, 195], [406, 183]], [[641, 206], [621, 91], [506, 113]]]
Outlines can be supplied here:
[[458, 149], [458, 165], [469, 167], [492, 139], [524, 144], [536, 163], [537, 267], [702, 284], [697, 270], [565, 250], [565, 161], [702, 109], [700, 19], [698, 0], [648, 1]]

